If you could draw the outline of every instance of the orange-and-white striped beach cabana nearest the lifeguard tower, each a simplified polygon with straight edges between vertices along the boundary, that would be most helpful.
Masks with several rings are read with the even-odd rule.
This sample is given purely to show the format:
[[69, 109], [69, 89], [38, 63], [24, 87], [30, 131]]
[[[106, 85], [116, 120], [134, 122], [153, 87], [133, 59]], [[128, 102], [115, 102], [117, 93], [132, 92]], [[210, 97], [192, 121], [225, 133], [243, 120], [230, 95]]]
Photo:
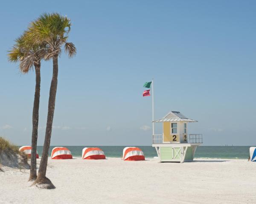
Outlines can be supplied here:
[[143, 151], [138, 147], [125, 147], [123, 150], [123, 160], [125, 161], [141, 161], [145, 160]]

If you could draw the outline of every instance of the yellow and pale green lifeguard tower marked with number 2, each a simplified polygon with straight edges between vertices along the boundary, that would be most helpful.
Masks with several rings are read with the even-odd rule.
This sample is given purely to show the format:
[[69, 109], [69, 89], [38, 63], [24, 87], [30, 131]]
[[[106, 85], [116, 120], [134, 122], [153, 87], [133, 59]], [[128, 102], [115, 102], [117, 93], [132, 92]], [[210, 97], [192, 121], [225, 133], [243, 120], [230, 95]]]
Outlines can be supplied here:
[[163, 134], [154, 134], [153, 130], [152, 142], [160, 161], [193, 161], [196, 147], [203, 143], [203, 137], [202, 134], [188, 134], [188, 123], [198, 121], [188, 119], [178, 111], [171, 111], [155, 122], [163, 123]]

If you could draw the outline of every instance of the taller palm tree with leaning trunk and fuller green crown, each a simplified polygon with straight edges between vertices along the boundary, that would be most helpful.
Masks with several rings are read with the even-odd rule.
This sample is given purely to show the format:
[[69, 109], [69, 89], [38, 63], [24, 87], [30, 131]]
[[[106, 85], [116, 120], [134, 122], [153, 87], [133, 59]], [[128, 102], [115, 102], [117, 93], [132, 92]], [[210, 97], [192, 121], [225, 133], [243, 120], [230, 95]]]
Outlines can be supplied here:
[[46, 43], [48, 48], [46, 59], [52, 59], [53, 61], [53, 73], [49, 92], [48, 115], [44, 138], [44, 147], [40, 167], [38, 170], [38, 177], [35, 181], [35, 184], [40, 188], [55, 188], [49, 178], [46, 177], [46, 171], [48, 151], [52, 134], [55, 96], [58, 83], [58, 57], [61, 54], [63, 47], [64, 50], [68, 53], [69, 57], [73, 57], [76, 54], [75, 45], [72, 42], [67, 42], [70, 26], [70, 19], [66, 16], [61, 16], [58, 13], [45, 13], [42, 14], [36, 21], [32, 22], [31, 26], [29, 27], [30, 39], [34, 40], [37, 43]]

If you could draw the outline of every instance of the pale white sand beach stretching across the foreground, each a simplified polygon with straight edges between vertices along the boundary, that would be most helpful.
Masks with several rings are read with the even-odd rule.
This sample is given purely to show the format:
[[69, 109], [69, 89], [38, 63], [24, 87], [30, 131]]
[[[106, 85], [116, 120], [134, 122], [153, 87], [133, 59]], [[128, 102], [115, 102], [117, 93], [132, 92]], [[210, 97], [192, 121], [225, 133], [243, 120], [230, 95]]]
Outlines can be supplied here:
[[31, 187], [29, 170], [2, 169], [0, 204], [256, 203], [256, 163], [247, 160], [196, 159], [180, 164], [157, 159], [49, 159], [47, 177], [54, 190]]

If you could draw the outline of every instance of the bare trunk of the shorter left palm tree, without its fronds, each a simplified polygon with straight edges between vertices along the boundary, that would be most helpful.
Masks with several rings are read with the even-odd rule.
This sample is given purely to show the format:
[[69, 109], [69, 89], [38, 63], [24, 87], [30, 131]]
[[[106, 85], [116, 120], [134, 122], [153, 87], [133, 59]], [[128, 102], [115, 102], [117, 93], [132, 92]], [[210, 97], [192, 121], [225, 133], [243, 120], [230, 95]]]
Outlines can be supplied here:
[[35, 64], [35, 98], [32, 116], [32, 144], [31, 144], [31, 159], [30, 159], [30, 176], [29, 181], [33, 181], [37, 178], [36, 176], [36, 146], [38, 139], [38, 112], [39, 112], [39, 101], [40, 101], [40, 75], [41, 65]]

